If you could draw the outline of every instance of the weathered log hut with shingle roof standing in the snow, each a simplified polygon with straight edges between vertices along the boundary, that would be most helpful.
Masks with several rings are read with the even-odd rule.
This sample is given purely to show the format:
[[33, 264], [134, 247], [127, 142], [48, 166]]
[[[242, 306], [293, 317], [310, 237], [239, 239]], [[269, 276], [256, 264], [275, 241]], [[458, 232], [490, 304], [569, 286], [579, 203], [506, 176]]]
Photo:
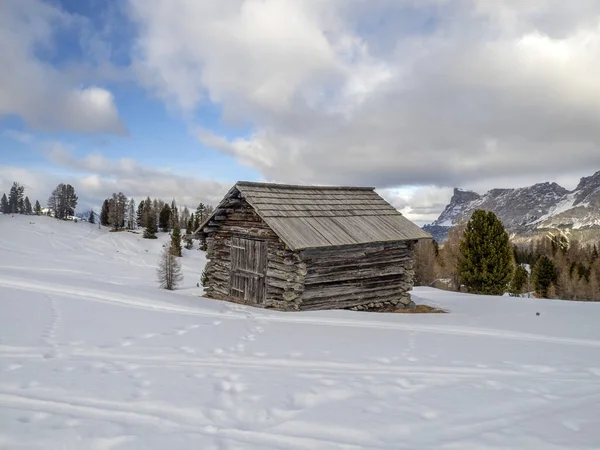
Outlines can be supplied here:
[[238, 182], [196, 232], [208, 297], [279, 310], [410, 304], [431, 238], [374, 188]]

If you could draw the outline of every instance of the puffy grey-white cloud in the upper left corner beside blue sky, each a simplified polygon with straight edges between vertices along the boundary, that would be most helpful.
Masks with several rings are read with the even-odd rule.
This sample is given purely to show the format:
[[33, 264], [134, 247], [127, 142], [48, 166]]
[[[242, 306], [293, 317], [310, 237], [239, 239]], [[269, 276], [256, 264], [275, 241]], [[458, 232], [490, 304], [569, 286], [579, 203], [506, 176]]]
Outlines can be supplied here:
[[38, 130], [126, 133], [111, 92], [82, 87], [39, 57], [55, 52], [57, 31], [74, 32], [77, 21], [39, 0], [0, 2], [0, 117], [18, 116]]

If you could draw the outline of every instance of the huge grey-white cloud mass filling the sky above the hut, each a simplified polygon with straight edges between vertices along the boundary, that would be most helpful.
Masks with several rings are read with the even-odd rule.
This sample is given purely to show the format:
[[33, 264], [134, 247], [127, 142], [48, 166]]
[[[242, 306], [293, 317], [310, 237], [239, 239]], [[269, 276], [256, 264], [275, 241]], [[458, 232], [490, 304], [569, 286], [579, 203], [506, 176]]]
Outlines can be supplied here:
[[210, 100], [252, 124], [196, 131], [269, 180], [487, 189], [600, 168], [597, 2], [130, 6], [146, 86], [188, 120]]

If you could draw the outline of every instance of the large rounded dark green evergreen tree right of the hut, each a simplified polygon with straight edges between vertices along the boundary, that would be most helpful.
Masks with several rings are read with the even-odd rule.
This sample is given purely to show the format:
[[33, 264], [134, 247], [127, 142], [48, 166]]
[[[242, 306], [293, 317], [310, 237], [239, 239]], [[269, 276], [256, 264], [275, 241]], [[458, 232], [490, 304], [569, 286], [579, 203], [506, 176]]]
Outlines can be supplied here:
[[512, 248], [504, 225], [491, 211], [477, 210], [460, 243], [461, 283], [474, 294], [502, 295], [512, 276]]

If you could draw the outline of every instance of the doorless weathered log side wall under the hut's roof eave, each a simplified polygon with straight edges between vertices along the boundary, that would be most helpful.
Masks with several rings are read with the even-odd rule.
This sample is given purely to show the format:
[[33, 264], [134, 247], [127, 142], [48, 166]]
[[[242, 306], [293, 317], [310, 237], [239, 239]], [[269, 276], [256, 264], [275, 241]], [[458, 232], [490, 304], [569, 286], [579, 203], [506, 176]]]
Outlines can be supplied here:
[[402, 308], [410, 304], [414, 241], [302, 252], [306, 264], [300, 309]]

